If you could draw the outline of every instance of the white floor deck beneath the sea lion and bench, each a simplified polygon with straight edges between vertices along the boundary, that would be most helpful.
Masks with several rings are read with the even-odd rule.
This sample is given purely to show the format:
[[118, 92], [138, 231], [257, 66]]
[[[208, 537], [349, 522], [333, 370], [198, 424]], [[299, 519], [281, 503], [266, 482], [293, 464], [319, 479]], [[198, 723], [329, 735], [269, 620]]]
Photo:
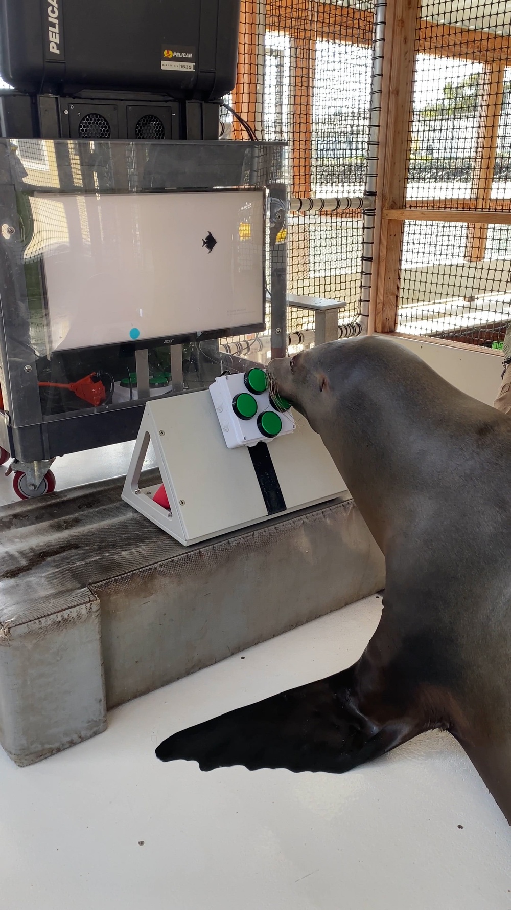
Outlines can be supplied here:
[[[128, 452], [57, 462], [60, 489]], [[0, 752], [2, 910], [511, 910], [511, 828], [446, 733], [340, 776], [155, 759], [176, 730], [348, 666], [380, 609], [175, 682], [30, 768]]]

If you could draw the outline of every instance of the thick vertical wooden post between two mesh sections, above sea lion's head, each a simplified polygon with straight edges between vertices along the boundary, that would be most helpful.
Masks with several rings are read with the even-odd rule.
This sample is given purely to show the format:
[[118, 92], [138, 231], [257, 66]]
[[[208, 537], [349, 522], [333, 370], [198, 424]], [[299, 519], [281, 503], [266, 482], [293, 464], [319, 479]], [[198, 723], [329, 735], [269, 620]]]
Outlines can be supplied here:
[[396, 329], [399, 265], [403, 221], [389, 221], [387, 209], [402, 209], [405, 204], [406, 163], [412, 84], [415, 63], [416, 25], [419, 0], [390, 0], [387, 7], [386, 55], [390, 45], [391, 66], [384, 83], [382, 107], [386, 122], [380, 137], [385, 157], [380, 167], [382, 212], [377, 242], [378, 268], [376, 300], [371, 328], [376, 332]]

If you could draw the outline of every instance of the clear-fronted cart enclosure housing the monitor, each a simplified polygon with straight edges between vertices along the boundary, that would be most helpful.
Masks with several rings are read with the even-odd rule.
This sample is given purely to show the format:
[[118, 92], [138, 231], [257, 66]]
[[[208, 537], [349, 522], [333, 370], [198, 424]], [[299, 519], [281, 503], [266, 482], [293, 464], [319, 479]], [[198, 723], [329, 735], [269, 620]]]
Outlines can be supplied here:
[[[278, 143], [0, 139], [11, 430], [140, 408], [140, 351], [151, 396], [172, 393], [175, 345], [188, 387], [211, 381], [205, 342], [264, 325], [267, 197], [282, 177]], [[55, 454], [41, 439], [35, 457]]]

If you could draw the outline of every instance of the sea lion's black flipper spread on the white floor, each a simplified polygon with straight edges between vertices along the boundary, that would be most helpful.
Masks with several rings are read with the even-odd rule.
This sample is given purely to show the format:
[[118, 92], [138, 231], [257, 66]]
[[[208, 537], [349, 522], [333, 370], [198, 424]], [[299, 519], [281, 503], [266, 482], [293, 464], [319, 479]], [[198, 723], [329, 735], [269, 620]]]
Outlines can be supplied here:
[[381, 725], [357, 710], [358, 667], [359, 662], [175, 733], [158, 746], [156, 756], [163, 762], [195, 761], [202, 771], [234, 764], [250, 771], [348, 771], [415, 734], [405, 719]]

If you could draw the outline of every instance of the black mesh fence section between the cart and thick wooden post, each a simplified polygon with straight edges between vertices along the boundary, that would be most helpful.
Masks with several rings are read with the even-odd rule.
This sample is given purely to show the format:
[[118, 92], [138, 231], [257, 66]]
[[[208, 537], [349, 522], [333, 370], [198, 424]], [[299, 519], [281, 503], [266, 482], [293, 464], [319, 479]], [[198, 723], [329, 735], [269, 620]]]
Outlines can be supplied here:
[[[362, 196], [366, 181], [373, 4], [243, 0], [231, 104], [258, 138], [286, 146], [294, 197]], [[231, 135], [247, 138], [241, 124]], [[360, 303], [362, 211], [288, 219], [288, 291]], [[314, 329], [314, 312], [291, 308], [288, 331]]]

